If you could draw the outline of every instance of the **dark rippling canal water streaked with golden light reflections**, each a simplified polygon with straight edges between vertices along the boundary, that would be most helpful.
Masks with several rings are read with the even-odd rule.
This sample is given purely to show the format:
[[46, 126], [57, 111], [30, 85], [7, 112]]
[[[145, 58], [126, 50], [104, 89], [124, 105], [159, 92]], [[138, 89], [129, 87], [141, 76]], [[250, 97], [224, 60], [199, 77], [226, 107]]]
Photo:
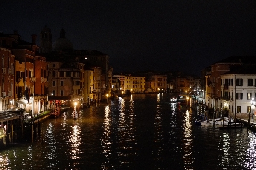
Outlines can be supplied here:
[[195, 126], [173, 94], [133, 94], [67, 111], [43, 123], [35, 142], [0, 151], [8, 170], [253, 170], [256, 133]]

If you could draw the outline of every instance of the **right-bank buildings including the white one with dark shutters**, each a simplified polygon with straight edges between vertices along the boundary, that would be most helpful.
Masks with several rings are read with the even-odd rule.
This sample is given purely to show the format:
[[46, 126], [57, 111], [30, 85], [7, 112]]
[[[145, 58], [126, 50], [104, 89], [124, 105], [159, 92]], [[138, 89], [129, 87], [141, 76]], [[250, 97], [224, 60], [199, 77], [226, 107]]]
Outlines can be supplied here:
[[256, 57], [231, 56], [202, 70], [202, 96], [209, 108], [228, 111], [230, 116], [255, 113]]

